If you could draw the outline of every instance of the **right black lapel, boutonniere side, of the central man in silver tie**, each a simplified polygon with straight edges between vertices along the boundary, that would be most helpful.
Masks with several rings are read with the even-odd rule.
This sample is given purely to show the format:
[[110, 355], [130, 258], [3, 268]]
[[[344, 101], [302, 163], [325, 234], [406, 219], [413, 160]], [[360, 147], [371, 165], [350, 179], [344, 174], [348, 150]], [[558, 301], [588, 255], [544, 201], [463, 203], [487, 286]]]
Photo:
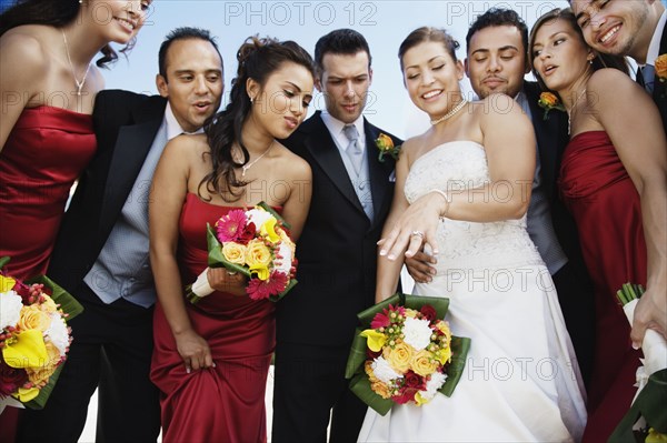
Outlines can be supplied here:
[[378, 150], [376, 147], [376, 139], [380, 135], [378, 128], [374, 127], [364, 119], [364, 131], [366, 132], [366, 160], [368, 162], [368, 180], [370, 181], [370, 192], [372, 194], [372, 207], [374, 207], [374, 222], [372, 226], [377, 223], [384, 223], [380, 220], [380, 214], [387, 204], [391, 203], [391, 183], [389, 183], [389, 175], [395, 168], [395, 161], [391, 157], [385, 157], [385, 161], [380, 162], [378, 159]]

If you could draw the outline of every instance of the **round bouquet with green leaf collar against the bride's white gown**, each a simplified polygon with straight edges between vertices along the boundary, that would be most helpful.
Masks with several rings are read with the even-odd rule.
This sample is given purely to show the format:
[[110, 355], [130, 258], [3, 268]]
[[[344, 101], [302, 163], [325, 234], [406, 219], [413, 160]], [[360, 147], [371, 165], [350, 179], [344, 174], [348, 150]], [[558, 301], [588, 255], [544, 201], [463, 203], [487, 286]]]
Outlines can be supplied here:
[[385, 415], [395, 403], [428, 403], [450, 396], [458, 383], [470, 339], [451, 335], [441, 320], [448, 299], [397, 293], [358, 314], [346, 379], [366, 404]]

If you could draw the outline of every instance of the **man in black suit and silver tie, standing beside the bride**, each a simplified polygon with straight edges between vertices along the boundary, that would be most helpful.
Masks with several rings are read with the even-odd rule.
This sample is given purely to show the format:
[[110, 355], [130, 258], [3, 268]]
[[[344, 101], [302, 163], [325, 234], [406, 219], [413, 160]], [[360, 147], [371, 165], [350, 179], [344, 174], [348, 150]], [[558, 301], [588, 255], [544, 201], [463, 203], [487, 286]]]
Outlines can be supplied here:
[[[285, 144], [312, 169], [312, 202], [297, 244], [299, 284], [278, 304], [272, 441], [352, 442], [366, 405], [345, 365], [356, 314], [374, 304], [376, 242], [394, 194], [394, 160], [378, 161], [380, 129], [361, 112], [372, 70], [366, 39], [341, 29], [315, 49], [326, 110]], [[385, 132], [387, 133], [387, 132]], [[400, 140], [392, 137], [396, 145]]]

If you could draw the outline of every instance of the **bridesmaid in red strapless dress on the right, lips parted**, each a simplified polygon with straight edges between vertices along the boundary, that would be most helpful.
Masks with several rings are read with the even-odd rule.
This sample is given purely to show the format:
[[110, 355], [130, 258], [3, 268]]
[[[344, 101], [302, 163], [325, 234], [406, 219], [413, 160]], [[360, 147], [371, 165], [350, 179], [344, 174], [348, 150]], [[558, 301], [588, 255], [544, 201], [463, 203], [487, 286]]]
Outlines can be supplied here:
[[548, 12], [532, 28], [530, 54], [534, 72], [558, 93], [570, 119], [560, 191], [596, 289], [597, 346], [584, 441], [598, 442], [607, 441], [629, 409], [641, 358], [631, 349], [616, 291], [640, 283], [647, 288], [641, 302], [667, 315], [667, 141], [657, 108], [625, 74], [625, 61], [603, 60], [586, 46], [579, 26], [593, 24], [577, 23], [569, 9]]

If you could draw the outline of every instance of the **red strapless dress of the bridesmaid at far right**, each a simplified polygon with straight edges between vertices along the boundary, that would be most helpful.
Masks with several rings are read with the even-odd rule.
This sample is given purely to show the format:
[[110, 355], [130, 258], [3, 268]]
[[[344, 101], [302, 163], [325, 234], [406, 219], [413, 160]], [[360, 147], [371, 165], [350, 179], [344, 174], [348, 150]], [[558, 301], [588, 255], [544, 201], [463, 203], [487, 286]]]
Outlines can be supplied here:
[[647, 256], [637, 189], [605, 131], [575, 135], [560, 167], [560, 192], [579, 230], [595, 284], [596, 354], [584, 442], [607, 441], [630, 407], [641, 353], [616, 299], [624, 283], [646, 286]]

